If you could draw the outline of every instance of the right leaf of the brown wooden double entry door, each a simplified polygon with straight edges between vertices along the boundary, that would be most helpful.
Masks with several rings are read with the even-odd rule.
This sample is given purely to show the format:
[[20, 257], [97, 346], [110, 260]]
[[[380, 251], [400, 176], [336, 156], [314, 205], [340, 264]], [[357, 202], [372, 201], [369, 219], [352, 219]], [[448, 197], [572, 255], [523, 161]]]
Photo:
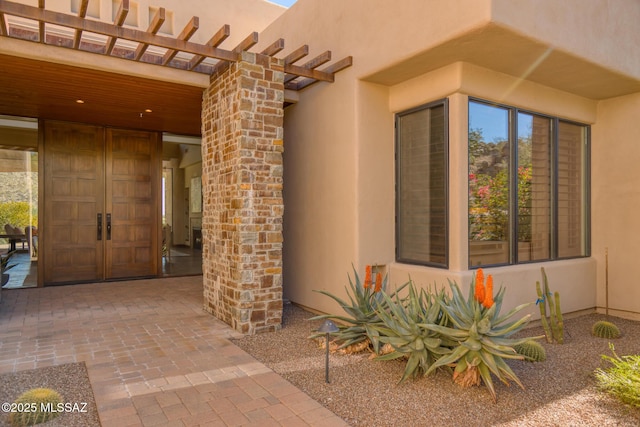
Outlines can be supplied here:
[[149, 132], [107, 130], [108, 279], [158, 274], [160, 140]]

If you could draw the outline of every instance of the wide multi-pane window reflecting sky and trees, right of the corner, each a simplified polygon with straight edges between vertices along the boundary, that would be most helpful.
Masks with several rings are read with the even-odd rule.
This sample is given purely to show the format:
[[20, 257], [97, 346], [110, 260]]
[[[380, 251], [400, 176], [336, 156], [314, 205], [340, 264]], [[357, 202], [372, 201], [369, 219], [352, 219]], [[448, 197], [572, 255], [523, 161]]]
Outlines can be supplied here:
[[469, 265], [589, 254], [589, 127], [469, 101]]

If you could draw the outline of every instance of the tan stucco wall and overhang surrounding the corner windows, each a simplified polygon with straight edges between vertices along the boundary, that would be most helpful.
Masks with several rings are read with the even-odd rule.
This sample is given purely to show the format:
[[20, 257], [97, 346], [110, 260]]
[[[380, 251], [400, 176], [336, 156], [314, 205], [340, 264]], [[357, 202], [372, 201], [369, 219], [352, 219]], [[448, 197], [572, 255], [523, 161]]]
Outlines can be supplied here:
[[[312, 290], [344, 295], [351, 263], [360, 272], [366, 264], [385, 265], [397, 284], [409, 274], [424, 286], [447, 278], [468, 284], [467, 97], [593, 124], [599, 120], [594, 96], [630, 91], [638, 83], [635, 59], [623, 58], [634, 45], [616, 39], [635, 31], [622, 16], [640, 17], [631, 0], [623, 6], [555, 3], [415, 0], [400, 7], [384, 0], [299, 0], [263, 32], [265, 39], [285, 38], [284, 54], [309, 44], [309, 58], [325, 49], [334, 58], [354, 57], [335, 83], [301, 92], [299, 104], [285, 112], [286, 297], [339, 311]], [[573, 8], [581, 19], [573, 18]], [[535, 14], [522, 13], [529, 9]], [[605, 37], [582, 37], [594, 27]], [[474, 52], [478, 47], [482, 55]], [[449, 270], [394, 262], [394, 113], [443, 97], [450, 109]], [[508, 286], [506, 304], [513, 306], [535, 301], [545, 266], [563, 310], [577, 311], [596, 305], [596, 261], [488, 273]]]

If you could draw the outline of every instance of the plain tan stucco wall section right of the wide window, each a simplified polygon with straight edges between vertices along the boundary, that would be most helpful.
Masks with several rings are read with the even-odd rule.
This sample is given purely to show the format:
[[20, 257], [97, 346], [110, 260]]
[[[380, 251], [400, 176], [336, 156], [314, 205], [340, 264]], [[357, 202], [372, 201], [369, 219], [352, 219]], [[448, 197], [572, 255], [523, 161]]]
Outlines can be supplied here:
[[592, 127], [592, 252], [598, 261], [598, 308], [606, 303], [608, 250], [611, 314], [640, 319], [640, 93], [602, 101]]

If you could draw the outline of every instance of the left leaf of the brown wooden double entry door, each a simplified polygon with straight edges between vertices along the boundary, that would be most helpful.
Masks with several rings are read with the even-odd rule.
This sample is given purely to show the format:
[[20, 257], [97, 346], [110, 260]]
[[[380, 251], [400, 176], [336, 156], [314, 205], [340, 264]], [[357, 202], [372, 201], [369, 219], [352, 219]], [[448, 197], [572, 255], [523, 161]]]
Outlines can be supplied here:
[[104, 130], [46, 122], [44, 133], [44, 282], [102, 280], [96, 230], [104, 209]]

